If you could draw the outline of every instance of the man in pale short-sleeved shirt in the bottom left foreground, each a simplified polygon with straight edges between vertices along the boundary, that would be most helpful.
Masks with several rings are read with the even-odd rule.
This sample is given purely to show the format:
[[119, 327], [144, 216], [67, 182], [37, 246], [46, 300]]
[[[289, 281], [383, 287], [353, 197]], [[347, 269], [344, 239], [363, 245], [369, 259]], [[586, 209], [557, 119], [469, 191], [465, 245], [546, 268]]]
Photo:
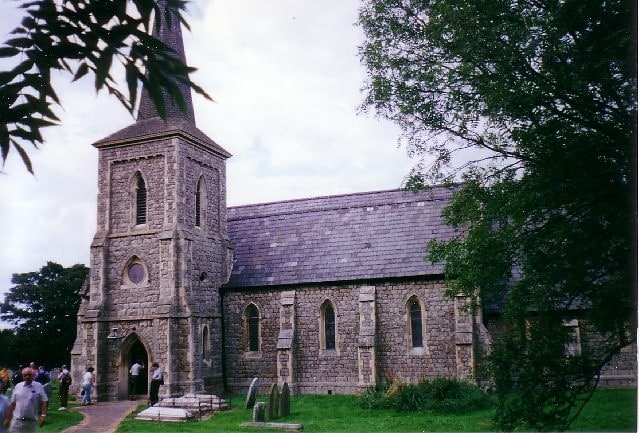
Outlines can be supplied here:
[[33, 379], [36, 372], [31, 368], [22, 370], [22, 379], [11, 394], [11, 403], [3, 425], [12, 433], [35, 433], [38, 424], [42, 427], [47, 419], [47, 394], [42, 384]]

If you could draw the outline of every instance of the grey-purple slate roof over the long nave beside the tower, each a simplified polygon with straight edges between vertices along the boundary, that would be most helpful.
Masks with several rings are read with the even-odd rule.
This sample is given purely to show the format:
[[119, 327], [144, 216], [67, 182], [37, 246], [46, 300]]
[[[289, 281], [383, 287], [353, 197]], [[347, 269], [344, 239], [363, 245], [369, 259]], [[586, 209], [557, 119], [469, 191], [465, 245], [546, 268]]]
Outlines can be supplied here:
[[455, 234], [440, 216], [451, 195], [391, 190], [230, 207], [226, 287], [440, 275], [426, 244]]

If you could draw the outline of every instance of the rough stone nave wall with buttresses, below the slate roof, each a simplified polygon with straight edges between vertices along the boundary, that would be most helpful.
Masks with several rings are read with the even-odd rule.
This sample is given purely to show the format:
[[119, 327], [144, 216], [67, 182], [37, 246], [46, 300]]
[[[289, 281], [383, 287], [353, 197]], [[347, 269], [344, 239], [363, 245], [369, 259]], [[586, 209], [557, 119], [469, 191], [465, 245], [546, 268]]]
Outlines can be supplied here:
[[[472, 377], [471, 339], [458, 341], [456, 331], [471, 331], [473, 321], [456, 316], [456, 300], [443, 299], [441, 281], [227, 290], [223, 311], [229, 390], [242, 392], [258, 377], [266, 392], [278, 381], [278, 363], [289, 356], [280, 315], [285, 292], [290, 293], [295, 309], [289, 383], [294, 392], [355, 393], [385, 378], [418, 382], [430, 377]], [[407, 302], [412, 298], [424, 307], [422, 348], [411, 344]], [[335, 309], [333, 350], [322, 346], [321, 307], [327, 301]], [[250, 303], [260, 312], [259, 352], [247, 351], [243, 314]]]

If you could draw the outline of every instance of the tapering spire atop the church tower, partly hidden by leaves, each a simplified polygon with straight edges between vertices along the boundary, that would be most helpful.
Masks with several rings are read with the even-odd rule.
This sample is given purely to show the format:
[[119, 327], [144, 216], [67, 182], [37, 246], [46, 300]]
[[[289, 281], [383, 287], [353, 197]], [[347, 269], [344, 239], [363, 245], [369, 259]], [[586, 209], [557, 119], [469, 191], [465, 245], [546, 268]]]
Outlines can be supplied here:
[[[153, 36], [167, 45], [169, 48], [172, 48], [182, 60], [183, 63], [186, 64], [186, 56], [184, 53], [184, 43], [182, 42], [182, 30], [180, 28], [180, 20], [172, 16], [170, 22], [168, 23], [165, 19], [165, 13], [167, 13], [166, 9], [166, 0], [158, 1], [158, 10], [160, 11], [160, 16], [157, 16], [156, 19], [160, 20], [160, 25], [153, 26]], [[167, 112], [167, 118], [179, 118], [184, 119], [185, 121], [195, 125], [195, 115], [193, 111], [193, 102], [191, 100], [191, 89], [187, 84], [178, 83], [178, 87], [184, 97], [184, 102], [186, 105], [186, 112], [182, 112], [178, 105], [167, 96], [166, 92], [162, 92], [163, 98], [165, 100], [165, 107]], [[140, 95], [140, 105], [138, 107], [138, 116], [136, 120], [138, 122], [152, 119], [154, 117], [160, 117], [156, 107], [153, 105], [153, 101], [149, 96], [149, 92], [146, 88], [142, 89], [142, 94]]]

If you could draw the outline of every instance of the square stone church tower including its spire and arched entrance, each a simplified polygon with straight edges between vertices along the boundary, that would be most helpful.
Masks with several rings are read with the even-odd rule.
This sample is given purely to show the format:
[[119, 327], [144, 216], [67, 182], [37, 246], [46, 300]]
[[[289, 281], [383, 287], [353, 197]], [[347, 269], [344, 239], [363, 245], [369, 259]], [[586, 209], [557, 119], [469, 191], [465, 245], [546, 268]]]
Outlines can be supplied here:
[[[163, 2], [161, 2], [162, 5]], [[154, 35], [185, 59], [180, 23]], [[229, 277], [225, 163], [230, 154], [167, 102], [162, 120], [143, 90], [135, 123], [94, 143], [98, 149], [97, 230], [72, 351], [75, 384], [96, 371], [98, 400], [132, 393], [129, 368], [145, 365], [136, 394], [147, 394], [158, 362], [160, 395], [223, 387], [219, 289]], [[167, 98], [165, 98], [167, 100]]]

